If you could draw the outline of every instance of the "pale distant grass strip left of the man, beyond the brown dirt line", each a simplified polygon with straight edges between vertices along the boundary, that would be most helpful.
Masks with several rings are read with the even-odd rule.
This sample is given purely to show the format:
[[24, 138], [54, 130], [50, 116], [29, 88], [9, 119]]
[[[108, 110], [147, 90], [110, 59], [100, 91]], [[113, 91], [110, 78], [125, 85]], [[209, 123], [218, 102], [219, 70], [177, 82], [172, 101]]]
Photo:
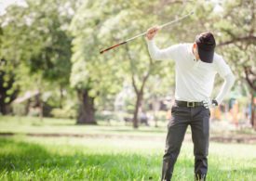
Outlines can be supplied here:
[[[164, 136], [166, 124], [159, 122], [159, 127], [141, 126], [134, 130], [125, 123], [99, 121], [99, 125], [76, 125], [74, 120], [44, 118], [40, 121], [34, 117], [9, 117], [0, 116], [0, 133], [57, 133], [57, 134], [104, 134], [104, 135], [136, 135], [136, 136]], [[17, 126], [19, 125], [19, 126]]]

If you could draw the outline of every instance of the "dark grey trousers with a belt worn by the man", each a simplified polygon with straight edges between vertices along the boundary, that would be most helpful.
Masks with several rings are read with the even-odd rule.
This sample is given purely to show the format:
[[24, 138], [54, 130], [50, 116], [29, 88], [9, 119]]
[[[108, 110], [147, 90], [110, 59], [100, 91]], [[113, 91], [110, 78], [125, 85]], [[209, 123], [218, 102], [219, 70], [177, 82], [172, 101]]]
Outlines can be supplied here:
[[171, 179], [174, 164], [180, 153], [188, 125], [191, 126], [194, 143], [195, 180], [206, 179], [208, 170], [209, 116], [209, 110], [203, 106], [187, 108], [174, 105], [171, 108], [161, 180], [169, 181]]

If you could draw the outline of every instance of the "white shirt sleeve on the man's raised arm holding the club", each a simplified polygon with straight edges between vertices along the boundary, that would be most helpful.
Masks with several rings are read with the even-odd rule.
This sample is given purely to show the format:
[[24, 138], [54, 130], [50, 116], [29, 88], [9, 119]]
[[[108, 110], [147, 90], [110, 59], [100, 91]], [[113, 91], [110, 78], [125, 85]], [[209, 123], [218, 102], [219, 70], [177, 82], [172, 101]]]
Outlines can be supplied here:
[[168, 48], [159, 49], [154, 40], [147, 40], [148, 51], [151, 58], [155, 60], [176, 59], [180, 45], [171, 45]]

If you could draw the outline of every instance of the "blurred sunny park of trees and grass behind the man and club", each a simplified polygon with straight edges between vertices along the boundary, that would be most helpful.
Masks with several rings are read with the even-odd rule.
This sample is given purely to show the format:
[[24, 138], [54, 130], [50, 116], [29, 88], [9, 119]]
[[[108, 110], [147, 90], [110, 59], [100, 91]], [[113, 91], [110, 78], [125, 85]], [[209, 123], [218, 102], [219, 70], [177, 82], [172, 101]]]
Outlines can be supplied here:
[[[174, 100], [160, 48], [210, 31], [236, 83], [211, 110], [209, 180], [256, 180], [254, 0], [0, 1], [0, 179], [158, 180]], [[217, 76], [212, 97], [222, 87]], [[174, 180], [193, 180], [187, 130]]]

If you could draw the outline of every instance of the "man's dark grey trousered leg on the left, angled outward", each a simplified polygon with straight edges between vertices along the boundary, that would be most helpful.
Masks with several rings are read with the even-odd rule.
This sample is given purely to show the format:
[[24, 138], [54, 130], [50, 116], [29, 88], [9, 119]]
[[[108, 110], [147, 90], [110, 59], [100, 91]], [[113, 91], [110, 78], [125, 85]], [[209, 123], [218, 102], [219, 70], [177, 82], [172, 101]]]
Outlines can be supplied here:
[[166, 140], [166, 149], [163, 157], [162, 178], [161, 180], [169, 181], [173, 172], [174, 164], [180, 153], [182, 141], [186, 132], [187, 122], [185, 119], [186, 111], [183, 108], [172, 108], [171, 120], [168, 123], [168, 135]]

